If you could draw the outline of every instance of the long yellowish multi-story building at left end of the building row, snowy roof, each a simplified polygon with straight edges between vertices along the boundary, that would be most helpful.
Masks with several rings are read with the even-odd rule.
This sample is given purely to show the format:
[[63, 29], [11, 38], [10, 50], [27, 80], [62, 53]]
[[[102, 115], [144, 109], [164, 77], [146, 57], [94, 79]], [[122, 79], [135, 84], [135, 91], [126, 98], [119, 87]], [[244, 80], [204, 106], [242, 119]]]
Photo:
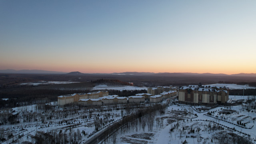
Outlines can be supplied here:
[[65, 104], [71, 104], [78, 102], [80, 99], [96, 99], [102, 96], [108, 96], [108, 91], [98, 91], [90, 93], [80, 93], [80, 94], [67, 94], [63, 96], [58, 96], [58, 105], [63, 106]]

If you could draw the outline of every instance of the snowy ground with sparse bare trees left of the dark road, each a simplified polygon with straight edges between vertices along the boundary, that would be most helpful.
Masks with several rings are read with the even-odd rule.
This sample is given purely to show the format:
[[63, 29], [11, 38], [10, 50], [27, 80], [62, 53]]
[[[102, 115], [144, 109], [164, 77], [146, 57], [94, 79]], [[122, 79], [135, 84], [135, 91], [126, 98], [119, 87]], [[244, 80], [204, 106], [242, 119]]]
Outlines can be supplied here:
[[[102, 106], [100, 109], [95, 108], [79, 108], [64, 107], [58, 108], [57, 102], [50, 102], [46, 105], [54, 106], [53, 109], [45, 109], [46, 105], [30, 105], [12, 108], [10, 110], [2, 110], [0, 114], [6, 116], [18, 115], [18, 124], [3, 124], [0, 126], [0, 134], [4, 134], [5, 142], [0, 144], [21, 143], [24, 141], [32, 142], [31, 135], [34, 136], [37, 131], [50, 132], [52, 130], [69, 134], [70, 128], [72, 132], [78, 129], [82, 135], [82, 143], [90, 138], [90, 135], [96, 132], [96, 123], [101, 123], [98, 130], [106, 128], [113, 122], [120, 120], [126, 115], [123, 105]], [[135, 112], [131, 110], [130, 112]], [[2, 122], [2, 121], [1, 121]], [[84, 134], [82, 134], [84, 131]], [[7, 137], [9, 135], [10, 139]], [[13, 140], [17, 140], [13, 142]]]

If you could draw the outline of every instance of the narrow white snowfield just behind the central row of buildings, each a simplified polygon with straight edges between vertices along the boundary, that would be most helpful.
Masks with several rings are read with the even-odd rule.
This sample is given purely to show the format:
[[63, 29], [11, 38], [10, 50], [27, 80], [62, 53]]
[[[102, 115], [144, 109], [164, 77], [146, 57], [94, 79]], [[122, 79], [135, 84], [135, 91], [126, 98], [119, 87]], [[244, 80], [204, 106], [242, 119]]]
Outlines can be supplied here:
[[138, 87], [138, 86], [107, 86], [100, 85], [95, 86], [93, 90], [148, 90], [147, 87]]

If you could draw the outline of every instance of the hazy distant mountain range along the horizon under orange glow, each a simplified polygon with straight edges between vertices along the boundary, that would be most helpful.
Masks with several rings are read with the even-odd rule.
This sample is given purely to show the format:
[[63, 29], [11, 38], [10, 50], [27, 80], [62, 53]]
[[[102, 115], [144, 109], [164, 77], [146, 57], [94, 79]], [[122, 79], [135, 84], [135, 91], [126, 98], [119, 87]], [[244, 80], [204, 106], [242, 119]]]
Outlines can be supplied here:
[[[2, 74], [67, 74], [67, 75], [83, 75], [81, 72], [56, 72], [56, 71], [47, 71], [47, 70], [0, 70]], [[100, 74], [100, 73], [95, 73]], [[103, 75], [103, 74], [100, 74]], [[190, 73], [190, 72], [163, 72], [163, 73], [154, 73], [154, 72], [121, 72], [121, 73], [111, 73], [106, 75], [128, 75], [128, 76], [170, 76], [170, 77], [180, 77], [180, 76], [256, 76], [256, 73], [246, 74], [211, 74], [211, 73]]]

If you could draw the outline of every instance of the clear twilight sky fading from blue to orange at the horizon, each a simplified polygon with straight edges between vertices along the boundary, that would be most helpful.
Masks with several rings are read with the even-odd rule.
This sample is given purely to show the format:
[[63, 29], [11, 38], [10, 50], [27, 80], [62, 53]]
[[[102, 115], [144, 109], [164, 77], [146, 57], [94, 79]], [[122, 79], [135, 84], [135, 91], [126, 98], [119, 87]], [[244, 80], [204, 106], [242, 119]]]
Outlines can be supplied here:
[[256, 73], [255, 0], [0, 0], [0, 70]]

